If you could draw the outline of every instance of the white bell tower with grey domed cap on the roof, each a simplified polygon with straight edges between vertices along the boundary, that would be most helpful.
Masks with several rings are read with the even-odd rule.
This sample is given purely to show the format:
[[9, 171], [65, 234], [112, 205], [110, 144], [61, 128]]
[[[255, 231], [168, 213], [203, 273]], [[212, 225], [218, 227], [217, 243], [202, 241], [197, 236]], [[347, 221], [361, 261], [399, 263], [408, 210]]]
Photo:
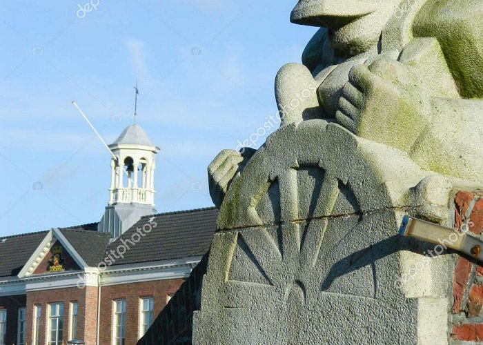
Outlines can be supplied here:
[[109, 148], [116, 159], [110, 162], [110, 197], [99, 231], [116, 238], [142, 216], [157, 213], [154, 176], [159, 148], [137, 124], [128, 126]]

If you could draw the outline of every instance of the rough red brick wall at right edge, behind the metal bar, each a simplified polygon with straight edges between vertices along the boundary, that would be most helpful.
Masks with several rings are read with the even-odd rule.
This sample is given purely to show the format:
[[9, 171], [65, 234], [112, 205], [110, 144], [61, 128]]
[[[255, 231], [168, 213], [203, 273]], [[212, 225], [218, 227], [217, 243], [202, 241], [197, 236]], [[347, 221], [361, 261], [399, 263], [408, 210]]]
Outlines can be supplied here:
[[[460, 192], [455, 198], [455, 227], [467, 222], [482, 238], [483, 193]], [[453, 278], [453, 325], [455, 340], [483, 342], [483, 266], [469, 257], [458, 257]]]

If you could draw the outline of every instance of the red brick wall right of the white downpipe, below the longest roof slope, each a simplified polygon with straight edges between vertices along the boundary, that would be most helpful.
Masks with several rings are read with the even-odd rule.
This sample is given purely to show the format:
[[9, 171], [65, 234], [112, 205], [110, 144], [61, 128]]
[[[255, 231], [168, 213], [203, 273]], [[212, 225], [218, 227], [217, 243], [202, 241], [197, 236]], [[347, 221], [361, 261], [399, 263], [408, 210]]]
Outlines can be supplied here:
[[99, 344], [112, 344], [112, 301], [126, 299], [126, 345], [135, 345], [139, 338], [139, 298], [154, 297], [155, 317], [166, 306], [168, 295], [174, 295], [185, 279], [159, 280], [103, 286], [101, 289], [101, 325]]

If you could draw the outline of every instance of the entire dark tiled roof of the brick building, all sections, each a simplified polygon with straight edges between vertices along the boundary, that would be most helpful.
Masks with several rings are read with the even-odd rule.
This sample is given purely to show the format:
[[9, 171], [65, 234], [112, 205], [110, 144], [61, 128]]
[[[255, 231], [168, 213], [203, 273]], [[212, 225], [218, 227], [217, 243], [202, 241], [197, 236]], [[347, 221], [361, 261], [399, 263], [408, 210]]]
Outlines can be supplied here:
[[[141, 217], [134, 226], [111, 244], [108, 234], [97, 232], [97, 223], [59, 230], [83, 260], [89, 266], [95, 267], [110, 250], [116, 252], [117, 247], [122, 244], [121, 241], [126, 243], [131, 239], [132, 235], [137, 233], [137, 228], [149, 231], [148, 224], [152, 224], [149, 233], [141, 230], [145, 236], [134, 246], [130, 246], [124, 258], [117, 259], [114, 266], [204, 255], [210, 248], [217, 217], [216, 208], [199, 208]], [[18, 275], [47, 233], [48, 231], [41, 231], [0, 237], [0, 277]]]

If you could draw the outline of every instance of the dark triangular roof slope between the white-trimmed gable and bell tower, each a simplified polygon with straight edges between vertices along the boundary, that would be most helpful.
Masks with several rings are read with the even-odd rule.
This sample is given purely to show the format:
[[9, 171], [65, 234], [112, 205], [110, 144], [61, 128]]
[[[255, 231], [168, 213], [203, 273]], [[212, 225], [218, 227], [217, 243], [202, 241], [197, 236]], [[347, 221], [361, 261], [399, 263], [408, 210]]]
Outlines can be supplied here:
[[97, 266], [102, 261], [109, 244], [109, 234], [75, 228], [60, 229], [72, 247], [89, 266]]

